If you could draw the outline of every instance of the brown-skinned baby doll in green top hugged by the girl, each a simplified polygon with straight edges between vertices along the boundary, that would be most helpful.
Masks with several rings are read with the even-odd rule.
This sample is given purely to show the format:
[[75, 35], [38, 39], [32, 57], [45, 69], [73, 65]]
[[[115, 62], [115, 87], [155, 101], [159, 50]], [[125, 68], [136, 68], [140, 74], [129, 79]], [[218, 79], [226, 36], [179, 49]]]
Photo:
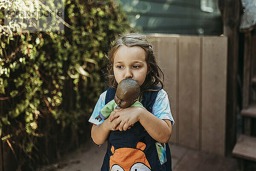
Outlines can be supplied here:
[[143, 107], [143, 105], [137, 101], [139, 94], [140, 84], [137, 81], [131, 78], [123, 79], [117, 85], [115, 98], [99, 111], [99, 116], [95, 119], [99, 119], [99, 122], [102, 119], [107, 119], [110, 113], [116, 108], [127, 108], [130, 106]]

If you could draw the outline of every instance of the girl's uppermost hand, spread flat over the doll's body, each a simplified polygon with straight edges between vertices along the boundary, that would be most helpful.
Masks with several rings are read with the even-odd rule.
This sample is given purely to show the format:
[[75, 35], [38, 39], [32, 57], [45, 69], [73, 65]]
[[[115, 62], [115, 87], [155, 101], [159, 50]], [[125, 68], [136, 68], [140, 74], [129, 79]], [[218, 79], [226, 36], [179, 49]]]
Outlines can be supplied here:
[[[111, 115], [110, 122], [114, 122], [119, 125], [119, 130], [127, 130], [134, 125], [135, 122], [140, 121], [140, 114], [143, 113], [145, 109], [143, 107], [128, 107], [125, 109], [115, 109], [113, 115]], [[117, 127], [113, 128], [117, 130]]]

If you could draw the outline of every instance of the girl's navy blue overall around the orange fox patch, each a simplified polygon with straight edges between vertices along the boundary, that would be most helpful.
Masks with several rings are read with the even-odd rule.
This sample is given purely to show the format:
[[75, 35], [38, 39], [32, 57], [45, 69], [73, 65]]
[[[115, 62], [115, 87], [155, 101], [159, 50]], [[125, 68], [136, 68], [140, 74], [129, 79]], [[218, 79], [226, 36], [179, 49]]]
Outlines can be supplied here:
[[[159, 87], [154, 87], [154, 90], [159, 89]], [[141, 103], [143, 106], [152, 113], [152, 107], [154, 105], [155, 99], [157, 97], [158, 91], [146, 91], [143, 93]], [[108, 88], [105, 98], [105, 104], [114, 99], [116, 94], [116, 89]], [[172, 171], [172, 159], [168, 143], [166, 143], [166, 162], [161, 165], [158, 158], [156, 149], [156, 140], [154, 140], [148, 132], [143, 128], [140, 122], [136, 122], [134, 126], [125, 131], [114, 130], [111, 131], [108, 137], [108, 148], [105, 154], [101, 171], [110, 171], [110, 159], [113, 157], [113, 152], [111, 148], [117, 150], [119, 148], [126, 149], [136, 149], [138, 142], [143, 142], [145, 149], [143, 150], [145, 158], [148, 161], [150, 168], [145, 169], [145, 171]], [[142, 144], [143, 144], [142, 143]], [[119, 149], [120, 150], [120, 149]], [[143, 154], [143, 155], [144, 155]], [[136, 161], [135, 161], [136, 162]], [[119, 166], [118, 166], [119, 167]], [[121, 171], [124, 169], [114, 169], [111, 171]], [[140, 171], [139, 169], [130, 169], [135, 171]], [[129, 171], [130, 171], [129, 170]], [[125, 170], [126, 171], [126, 170]], [[144, 171], [144, 170], [143, 170]]]

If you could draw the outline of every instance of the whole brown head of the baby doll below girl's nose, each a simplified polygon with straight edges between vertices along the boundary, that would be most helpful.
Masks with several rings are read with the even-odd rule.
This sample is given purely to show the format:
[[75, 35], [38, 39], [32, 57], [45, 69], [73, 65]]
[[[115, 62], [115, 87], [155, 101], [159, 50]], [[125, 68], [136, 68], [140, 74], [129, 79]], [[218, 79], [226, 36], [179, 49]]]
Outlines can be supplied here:
[[134, 104], [140, 94], [140, 84], [131, 78], [119, 82], [116, 88], [115, 102], [120, 108], [127, 108]]

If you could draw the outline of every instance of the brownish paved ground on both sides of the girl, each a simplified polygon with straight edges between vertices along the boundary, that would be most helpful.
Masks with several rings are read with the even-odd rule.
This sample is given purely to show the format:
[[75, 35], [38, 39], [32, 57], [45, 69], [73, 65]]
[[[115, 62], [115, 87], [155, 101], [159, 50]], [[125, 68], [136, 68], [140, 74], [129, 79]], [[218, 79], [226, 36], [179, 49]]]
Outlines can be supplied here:
[[[236, 171], [236, 159], [195, 151], [170, 144], [173, 171]], [[99, 171], [107, 145], [101, 147], [87, 142], [83, 147], [67, 154], [58, 164], [38, 171]]]

